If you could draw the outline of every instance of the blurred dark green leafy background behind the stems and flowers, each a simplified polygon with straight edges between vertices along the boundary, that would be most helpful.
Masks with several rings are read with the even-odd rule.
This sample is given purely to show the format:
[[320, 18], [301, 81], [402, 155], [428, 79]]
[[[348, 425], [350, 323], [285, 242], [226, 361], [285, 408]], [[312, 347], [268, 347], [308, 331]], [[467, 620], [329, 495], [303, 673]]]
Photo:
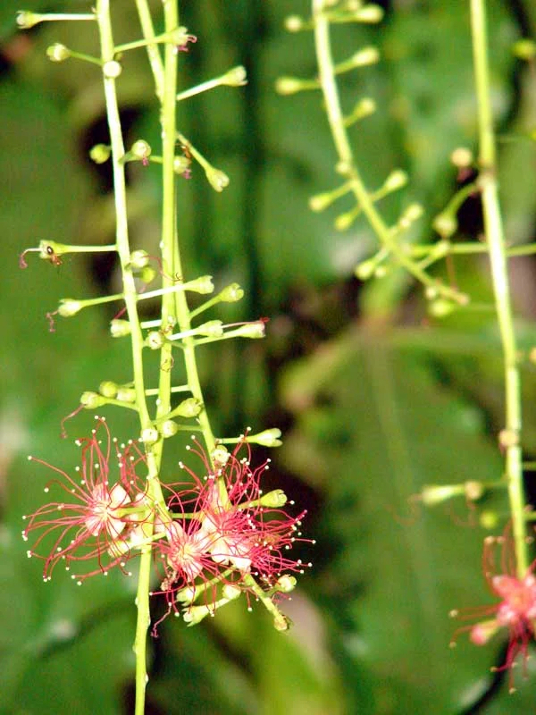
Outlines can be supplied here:
[[[448, 156], [462, 144], [474, 148], [468, 4], [385, 5], [379, 27], [340, 29], [340, 59], [371, 43], [383, 56], [377, 67], [341, 80], [341, 90], [348, 109], [364, 95], [376, 100], [378, 113], [352, 130], [365, 180], [379, 186], [391, 168], [406, 169], [410, 185], [389, 199], [385, 213], [392, 218], [421, 201], [426, 216], [413, 239], [430, 241], [433, 216], [456, 190]], [[88, 6], [33, 0], [28, 9]], [[69, 469], [78, 458], [72, 440], [89, 429], [91, 416], [67, 423], [67, 441], [59, 437], [60, 420], [82, 391], [130, 379], [129, 349], [107, 330], [113, 312], [59, 318], [54, 333], [45, 317], [62, 297], [117, 290], [115, 265], [75, 256], [53, 266], [30, 255], [28, 269], [17, 267], [17, 255], [40, 239], [113, 240], [110, 177], [106, 165], [97, 170], [88, 160], [88, 148], [106, 141], [99, 73], [76, 61], [48, 63], [45, 54], [54, 41], [95, 52], [96, 31], [91, 23], [47, 23], [18, 33], [18, 9], [18, 0], [0, 7], [0, 713], [113, 715], [131, 710], [133, 579], [96, 577], [78, 588], [58, 573], [44, 585], [19, 536], [21, 514], [38, 507], [49, 478], [25, 455]], [[131, 0], [115, 0], [113, 13], [116, 40], [137, 38]], [[247, 290], [217, 317], [272, 318], [266, 341], [199, 351], [205, 394], [217, 433], [249, 424], [287, 428], [265, 488], [282, 483], [309, 509], [304, 528], [317, 546], [303, 558], [313, 559], [314, 569], [289, 601], [289, 635], [274, 632], [262, 610], [248, 613], [242, 602], [196, 628], [166, 621], [149, 645], [147, 712], [533, 711], [533, 669], [526, 681], [518, 674], [514, 696], [490, 674], [504, 658], [499, 639], [477, 649], [462, 635], [448, 649], [456, 628], [448, 611], [490, 602], [480, 566], [484, 532], [474, 525], [481, 509], [504, 512], [500, 494], [476, 511], [460, 501], [415, 514], [407, 501], [423, 484], [501, 475], [494, 435], [502, 425], [502, 364], [493, 314], [457, 312], [433, 323], [405, 274], [393, 270], [364, 285], [352, 278], [356, 262], [373, 249], [371, 231], [358, 221], [338, 233], [332, 222], [339, 205], [324, 214], [307, 207], [310, 196], [337, 182], [322, 102], [317, 93], [273, 91], [281, 74], [315, 71], [311, 36], [282, 28], [288, 13], [306, 14], [307, 3], [184, 4], [181, 21], [198, 41], [180, 56], [180, 88], [239, 63], [249, 83], [180, 104], [182, 132], [231, 182], [215, 194], [194, 167], [191, 181], [180, 180], [178, 211], [188, 277], [211, 273], [218, 287], [238, 281]], [[515, 63], [511, 46], [533, 36], [535, 25], [530, 0], [490, 2], [501, 189], [515, 244], [534, 239], [536, 149], [527, 135], [536, 125], [536, 82], [532, 66]], [[143, 137], [157, 147], [142, 50], [125, 57], [120, 88], [127, 144]], [[129, 177], [133, 243], [156, 253], [158, 173], [137, 165]], [[460, 221], [460, 237], [474, 239], [476, 201]], [[455, 269], [475, 300], [490, 300], [485, 261], [461, 257]], [[534, 277], [531, 259], [512, 261], [525, 352], [536, 340]], [[153, 310], [147, 307], [147, 316]], [[525, 448], [533, 455], [536, 379], [529, 363], [523, 376]], [[110, 410], [107, 418], [120, 439], [137, 429], [130, 414]], [[180, 440], [168, 443], [167, 473], [182, 454]], [[527, 487], [532, 493], [530, 481]], [[155, 604], [155, 613], [161, 608]]]

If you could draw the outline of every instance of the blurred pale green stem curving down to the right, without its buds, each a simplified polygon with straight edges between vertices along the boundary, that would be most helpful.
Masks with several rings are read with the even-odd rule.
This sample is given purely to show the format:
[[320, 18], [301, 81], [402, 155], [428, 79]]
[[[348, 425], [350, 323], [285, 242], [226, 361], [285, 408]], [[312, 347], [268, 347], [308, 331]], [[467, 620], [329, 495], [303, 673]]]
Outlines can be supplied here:
[[457, 303], [465, 304], [466, 297], [457, 290], [442, 285], [431, 278], [419, 265], [415, 264], [406, 250], [400, 246], [398, 240], [393, 235], [389, 226], [384, 223], [381, 215], [376, 210], [371, 194], [364, 186], [360, 172], [356, 168], [354, 155], [348, 141], [348, 133], [345, 127], [344, 115], [339, 100], [339, 89], [335, 80], [336, 68], [331, 55], [330, 22], [323, 13], [325, 0], [313, 0], [314, 18], [314, 44], [316, 47], [316, 59], [322, 93], [325, 100], [328, 121], [330, 122], [331, 135], [339, 155], [339, 166], [344, 169], [344, 176], [352, 183], [352, 191], [356, 197], [357, 204], [363, 210], [373, 231], [381, 241], [381, 245], [389, 249], [389, 252], [396, 257], [398, 263], [406, 268], [423, 285], [437, 291], [445, 298], [455, 300]]

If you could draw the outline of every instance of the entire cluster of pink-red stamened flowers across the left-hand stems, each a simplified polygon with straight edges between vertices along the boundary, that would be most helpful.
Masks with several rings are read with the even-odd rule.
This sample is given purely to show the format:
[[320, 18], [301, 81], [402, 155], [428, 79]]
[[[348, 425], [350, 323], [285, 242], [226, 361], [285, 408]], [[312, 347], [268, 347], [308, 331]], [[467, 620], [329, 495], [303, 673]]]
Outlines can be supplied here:
[[[163, 594], [167, 603], [164, 618], [182, 612], [188, 624], [214, 615], [240, 593], [247, 594], [248, 605], [253, 595], [269, 602], [272, 610], [294, 588], [292, 574], [310, 566], [289, 553], [295, 543], [307, 541], [299, 531], [306, 512], [290, 516], [283, 509], [284, 492], [262, 492], [260, 478], [269, 463], [250, 466], [247, 435], [231, 453], [220, 445], [210, 457], [194, 438], [189, 451], [200, 458], [204, 474], [180, 463], [184, 481], [159, 483], [149, 493], [137, 475], [137, 467], [146, 462], [138, 444], [120, 447], [111, 440], [105, 419], [96, 420], [91, 436], [77, 441], [80, 481], [30, 458], [61, 477], [47, 484], [46, 492], [55, 485], [67, 495], [65, 501], [47, 503], [24, 517], [24, 540], [37, 534], [28, 555], [45, 560], [46, 581], [60, 561], [67, 570], [72, 562], [90, 563], [84, 574], [71, 575], [78, 584], [114, 567], [130, 575], [128, 560], [149, 546], [160, 584], [154, 593]], [[243, 448], [247, 457], [239, 458]], [[116, 480], [111, 478], [112, 455], [118, 461]], [[287, 627], [279, 616], [280, 626]]]

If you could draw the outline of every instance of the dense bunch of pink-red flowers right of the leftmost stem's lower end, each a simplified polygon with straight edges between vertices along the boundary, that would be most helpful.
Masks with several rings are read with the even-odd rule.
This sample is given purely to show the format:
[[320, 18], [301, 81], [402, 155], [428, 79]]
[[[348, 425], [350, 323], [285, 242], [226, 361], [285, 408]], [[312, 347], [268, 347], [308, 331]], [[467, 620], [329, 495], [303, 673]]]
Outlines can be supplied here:
[[[161, 588], [168, 612], [178, 615], [178, 601], [186, 603], [188, 622], [192, 610], [199, 608], [192, 605], [198, 596], [205, 601], [204, 615], [214, 615], [230, 600], [218, 600], [221, 589], [232, 598], [242, 592], [258, 598], [259, 590], [277, 596], [291, 590], [289, 578], [285, 587], [280, 586], [283, 576], [303, 573], [311, 565], [289, 556], [295, 543], [308, 541], [299, 532], [306, 512], [292, 517], [282, 509], [287, 498], [281, 490], [263, 494], [259, 483], [268, 462], [250, 466], [246, 438], [232, 454], [215, 450], [212, 463], [194, 442], [191, 451], [201, 459], [205, 475], [200, 478], [180, 463], [191, 480], [167, 487], [173, 520], [164, 526], [166, 538], [155, 543], [165, 574]], [[247, 458], [238, 457], [243, 447]]]

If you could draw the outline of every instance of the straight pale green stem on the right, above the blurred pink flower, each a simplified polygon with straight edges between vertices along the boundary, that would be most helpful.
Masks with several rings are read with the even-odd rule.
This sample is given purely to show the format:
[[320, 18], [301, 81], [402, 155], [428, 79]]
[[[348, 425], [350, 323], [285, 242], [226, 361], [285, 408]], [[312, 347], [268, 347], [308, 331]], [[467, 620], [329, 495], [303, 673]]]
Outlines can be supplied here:
[[498, 203], [496, 141], [490, 101], [490, 66], [486, 29], [485, 0], [471, 0], [473, 62], [478, 98], [480, 186], [486, 240], [490, 249], [491, 277], [497, 305], [505, 371], [506, 392], [506, 477], [512, 515], [517, 576], [528, 568], [525, 542], [525, 502], [521, 441], [521, 386], [515, 341], [512, 300], [508, 282], [507, 246]]

